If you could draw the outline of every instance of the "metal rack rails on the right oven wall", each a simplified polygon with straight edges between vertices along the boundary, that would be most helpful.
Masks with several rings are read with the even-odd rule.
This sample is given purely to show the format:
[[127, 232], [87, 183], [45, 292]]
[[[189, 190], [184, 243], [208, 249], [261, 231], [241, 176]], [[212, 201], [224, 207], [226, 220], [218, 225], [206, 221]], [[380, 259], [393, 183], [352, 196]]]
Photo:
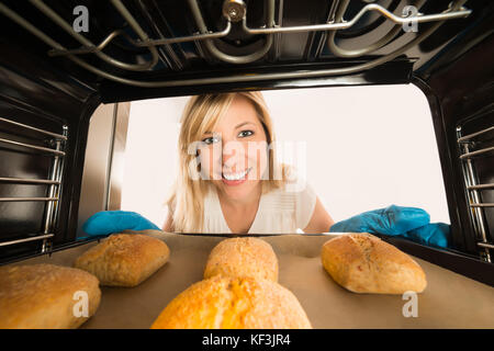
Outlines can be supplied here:
[[494, 191], [494, 183], [479, 183], [474, 160], [480, 157], [493, 157], [494, 147], [482, 147], [471, 150], [480, 136], [494, 135], [494, 126], [483, 128], [479, 132], [462, 135], [462, 127], [457, 127], [457, 141], [460, 149], [460, 162], [463, 170], [463, 179], [467, 190], [470, 216], [478, 238], [478, 247], [481, 250], [481, 258], [492, 262], [491, 250], [494, 250], [494, 242], [487, 238], [485, 225], [485, 213], [487, 208], [494, 207], [494, 203], [484, 203], [481, 201], [481, 192]]

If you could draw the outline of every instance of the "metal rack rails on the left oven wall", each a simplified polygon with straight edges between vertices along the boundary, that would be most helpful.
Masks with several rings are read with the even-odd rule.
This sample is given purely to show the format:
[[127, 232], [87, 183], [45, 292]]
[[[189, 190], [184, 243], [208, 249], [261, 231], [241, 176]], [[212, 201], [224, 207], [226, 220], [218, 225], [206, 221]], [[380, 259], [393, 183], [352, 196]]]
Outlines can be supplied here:
[[[10, 118], [0, 117], [0, 126], [1, 125], [10, 125], [14, 126], [19, 131], [30, 132], [42, 136], [42, 140], [46, 141], [53, 146], [49, 147], [41, 147], [33, 144], [20, 143], [8, 138], [0, 138], [0, 145], [2, 146], [14, 146], [20, 147], [24, 151], [32, 154], [43, 154], [52, 157], [52, 165], [49, 169], [48, 179], [31, 179], [31, 178], [14, 178], [14, 177], [0, 177], [0, 183], [7, 184], [34, 184], [34, 185], [47, 185], [47, 195], [45, 197], [0, 197], [0, 203], [12, 203], [12, 202], [45, 202], [45, 211], [43, 218], [43, 233], [37, 234], [19, 234], [23, 238], [0, 241], [0, 247], [16, 245], [27, 241], [43, 240], [41, 246], [41, 252], [45, 253], [50, 250], [50, 239], [55, 236], [53, 233], [57, 218], [58, 218], [58, 208], [57, 205], [60, 200], [60, 185], [63, 181], [63, 168], [64, 168], [64, 158], [65, 158], [65, 145], [67, 141], [68, 128], [67, 126], [63, 126], [63, 133], [57, 134], [53, 132], [48, 132], [45, 129], [36, 128], [23, 123], [15, 122]], [[7, 131], [0, 128], [1, 132], [5, 134], [11, 134]], [[29, 136], [31, 138], [32, 136]], [[0, 233], [1, 234], [1, 233]]]

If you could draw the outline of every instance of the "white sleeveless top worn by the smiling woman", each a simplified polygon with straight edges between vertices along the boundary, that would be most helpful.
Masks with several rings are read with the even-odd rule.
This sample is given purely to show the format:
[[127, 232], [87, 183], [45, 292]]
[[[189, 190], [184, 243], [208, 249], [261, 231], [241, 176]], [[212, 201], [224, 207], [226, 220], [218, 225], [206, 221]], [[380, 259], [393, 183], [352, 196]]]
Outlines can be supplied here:
[[[307, 183], [297, 192], [276, 189], [265, 193], [248, 234], [296, 234], [297, 229], [303, 230], [308, 225], [315, 203], [316, 194]], [[204, 199], [203, 229], [211, 234], [232, 233], [214, 186]]]

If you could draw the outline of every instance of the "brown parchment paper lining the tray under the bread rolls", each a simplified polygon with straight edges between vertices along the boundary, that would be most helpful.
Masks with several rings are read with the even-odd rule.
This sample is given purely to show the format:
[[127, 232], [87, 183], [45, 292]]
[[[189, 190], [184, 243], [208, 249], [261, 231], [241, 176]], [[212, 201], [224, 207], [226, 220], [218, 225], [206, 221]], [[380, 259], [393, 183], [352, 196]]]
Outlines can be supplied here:
[[[135, 287], [101, 286], [99, 309], [81, 328], [149, 328], [167, 304], [202, 280], [207, 256], [224, 237], [144, 230], [170, 248], [169, 261]], [[335, 235], [261, 237], [279, 259], [279, 283], [304, 307], [314, 328], [494, 328], [494, 287], [414, 258], [427, 275], [418, 317], [404, 317], [402, 295], [355, 294], [336, 284], [321, 263], [321, 247]], [[71, 265], [90, 242], [13, 264]]]

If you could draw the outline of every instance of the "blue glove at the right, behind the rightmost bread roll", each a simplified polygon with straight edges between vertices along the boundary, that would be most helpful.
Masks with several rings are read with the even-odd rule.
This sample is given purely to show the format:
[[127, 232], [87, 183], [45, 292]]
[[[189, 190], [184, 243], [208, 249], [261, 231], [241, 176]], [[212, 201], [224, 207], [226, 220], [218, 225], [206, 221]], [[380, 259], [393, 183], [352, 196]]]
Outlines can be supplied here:
[[391, 205], [335, 223], [329, 233], [384, 234], [427, 246], [448, 247], [449, 226], [429, 222], [429, 214], [422, 208]]

